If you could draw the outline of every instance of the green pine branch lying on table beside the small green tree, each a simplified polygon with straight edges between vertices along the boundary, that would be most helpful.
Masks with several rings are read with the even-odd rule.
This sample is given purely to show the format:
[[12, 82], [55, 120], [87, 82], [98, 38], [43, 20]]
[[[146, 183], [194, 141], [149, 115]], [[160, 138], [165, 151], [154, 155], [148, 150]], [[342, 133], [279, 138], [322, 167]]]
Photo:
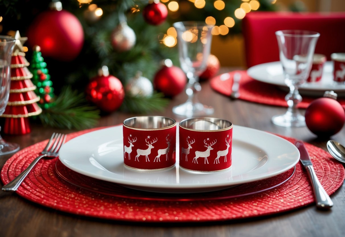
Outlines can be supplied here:
[[55, 106], [43, 110], [39, 115], [45, 126], [77, 130], [94, 127], [99, 117], [99, 111], [87, 104], [84, 94], [78, 94], [70, 87], [62, 90]]

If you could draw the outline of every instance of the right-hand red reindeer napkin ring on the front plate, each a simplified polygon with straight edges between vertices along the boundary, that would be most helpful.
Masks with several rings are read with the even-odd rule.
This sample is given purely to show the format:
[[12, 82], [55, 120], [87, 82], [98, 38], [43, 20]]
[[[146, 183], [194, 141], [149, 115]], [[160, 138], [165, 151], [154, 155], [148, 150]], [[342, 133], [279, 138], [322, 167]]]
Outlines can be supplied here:
[[199, 172], [231, 167], [233, 124], [219, 118], [187, 118], [179, 125], [180, 167]]

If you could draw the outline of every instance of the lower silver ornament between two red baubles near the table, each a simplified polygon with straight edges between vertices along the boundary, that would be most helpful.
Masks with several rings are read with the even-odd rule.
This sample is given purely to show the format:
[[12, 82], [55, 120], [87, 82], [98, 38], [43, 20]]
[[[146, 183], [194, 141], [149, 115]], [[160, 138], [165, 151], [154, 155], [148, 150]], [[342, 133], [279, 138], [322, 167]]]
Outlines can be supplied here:
[[151, 81], [141, 76], [141, 72], [138, 72], [135, 77], [129, 80], [126, 85], [126, 92], [132, 96], [143, 96], [148, 97], [153, 94], [153, 85]]

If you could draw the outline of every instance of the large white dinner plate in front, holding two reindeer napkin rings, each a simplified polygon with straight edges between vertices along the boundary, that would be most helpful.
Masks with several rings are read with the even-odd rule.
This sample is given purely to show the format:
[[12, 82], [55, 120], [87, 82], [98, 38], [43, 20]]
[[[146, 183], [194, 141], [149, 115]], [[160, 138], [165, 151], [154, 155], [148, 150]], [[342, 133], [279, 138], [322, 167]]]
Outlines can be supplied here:
[[179, 168], [178, 162], [168, 170], [138, 171], [124, 166], [123, 149], [119, 125], [71, 139], [60, 149], [59, 159], [71, 170], [92, 178], [138, 190], [170, 193], [214, 191], [266, 179], [289, 170], [299, 161], [299, 151], [292, 143], [242, 126], [233, 128], [232, 166], [220, 172], [193, 173]]

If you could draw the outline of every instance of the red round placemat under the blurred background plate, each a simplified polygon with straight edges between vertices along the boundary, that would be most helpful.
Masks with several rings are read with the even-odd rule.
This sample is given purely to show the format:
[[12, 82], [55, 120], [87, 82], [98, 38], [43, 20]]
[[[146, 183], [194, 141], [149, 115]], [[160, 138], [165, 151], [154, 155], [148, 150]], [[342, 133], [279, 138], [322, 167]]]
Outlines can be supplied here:
[[[287, 94], [286, 91], [282, 91], [275, 85], [254, 80], [248, 76], [246, 70], [229, 72], [228, 74], [230, 76], [226, 77], [226, 80], [221, 79], [223, 74], [212, 78], [210, 81], [211, 88], [223, 95], [230, 96], [231, 87], [233, 85], [233, 76], [236, 72], [240, 73], [242, 76], [239, 86], [239, 99], [260, 104], [287, 107], [287, 103], [285, 101], [285, 96]], [[303, 100], [298, 104], [298, 107], [307, 108], [308, 105], [316, 98], [317, 97], [303, 95]], [[342, 104], [345, 109], [345, 99], [338, 98], [337, 101]]]

